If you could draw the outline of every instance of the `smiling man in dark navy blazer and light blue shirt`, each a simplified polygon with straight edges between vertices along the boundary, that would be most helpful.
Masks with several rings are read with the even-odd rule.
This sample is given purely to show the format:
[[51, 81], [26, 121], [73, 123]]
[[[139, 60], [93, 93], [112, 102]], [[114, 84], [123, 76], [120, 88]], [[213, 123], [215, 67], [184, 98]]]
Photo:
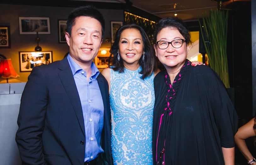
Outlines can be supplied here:
[[32, 70], [16, 134], [23, 164], [112, 164], [108, 83], [92, 62], [104, 31], [96, 8], [76, 8], [67, 19], [69, 55]]

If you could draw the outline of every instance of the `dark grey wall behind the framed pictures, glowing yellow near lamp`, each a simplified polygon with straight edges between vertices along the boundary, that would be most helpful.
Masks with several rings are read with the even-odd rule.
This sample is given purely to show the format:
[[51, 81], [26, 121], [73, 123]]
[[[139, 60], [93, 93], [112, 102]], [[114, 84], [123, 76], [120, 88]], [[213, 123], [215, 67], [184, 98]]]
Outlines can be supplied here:
[[[20, 75], [17, 81], [26, 82], [30, 72], [20, 72], [19, 51], [34, 51], [36, 35], [20, 35], [18, 17], [49, 17], [51, 34], [40, 34], [39, 45], [43, 51], [53, 51], [53, 61], [61, 60], [69, 51], [66, 43], [58, 43], [58, 19], [66, 19], [73, 8], [0, 4], [0, 26], [10, 26], [11, 48], [0, 48], [0, 54], [12, 59], [15, 71]], [[106, 38], [111, 37], [110, 21], [123, 21], [123, 10], [100, 9], [105, 17], [105, 35], [102, 47], [111, 47]], [[10, 78], [12, 79], [12, 78]], [[5, 80], [0, 78], [1, 80]], [[10, 80], [11, 82], [11, 80]]]

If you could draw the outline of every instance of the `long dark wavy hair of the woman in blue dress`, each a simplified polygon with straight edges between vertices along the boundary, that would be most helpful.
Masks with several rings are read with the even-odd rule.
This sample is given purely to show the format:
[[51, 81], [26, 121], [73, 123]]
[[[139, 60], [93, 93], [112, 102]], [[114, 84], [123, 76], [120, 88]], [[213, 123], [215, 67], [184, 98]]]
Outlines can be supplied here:
[[[142, 74], [142, 79], [145, 79], [146, 77], [150, 76], [152, 74], [152, 71], [156, 71], [157, 66], [156, 66], [156, 58], [155, 58], [155, 52], [153, 50], [153, 47], [151, 46], [151, 43], [148, 39], [148, 36], [146, 35], [145, 31], [136, 24], [129, 24], [129, 25], [124, 25], [120, 27], [115, 35], [115, 41], [111, 47], [111, 54], [109, 57], [109, 61], [111, 61], [111, 68], [114, 71], [119, 71], [119, 73], [122, 73], [124, 71], [124, 64], [122, 61], [122, 58], [120, 61], [117, 60], [117, 52], [119, 51], [119, 41], [121, 37], [121, 33], [125, 29], [136, 29], [139, 30], [140, 35], [142, 36], [142, 41], [143, 41], [143, 51], [145, 52], [145, 60], [143, 62], [142, 56], [139, 59], [139, 65], [142, 67], [140, 74]], [[113, 58], [112, 58], [113, 55]]]

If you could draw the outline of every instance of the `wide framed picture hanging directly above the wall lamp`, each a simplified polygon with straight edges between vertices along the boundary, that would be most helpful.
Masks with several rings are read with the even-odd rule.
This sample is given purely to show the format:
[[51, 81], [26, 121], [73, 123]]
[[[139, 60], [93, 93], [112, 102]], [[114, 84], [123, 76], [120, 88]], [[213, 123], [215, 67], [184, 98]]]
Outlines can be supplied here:
[[51, 34], [49, 17], [19, 17], [20, 34]]

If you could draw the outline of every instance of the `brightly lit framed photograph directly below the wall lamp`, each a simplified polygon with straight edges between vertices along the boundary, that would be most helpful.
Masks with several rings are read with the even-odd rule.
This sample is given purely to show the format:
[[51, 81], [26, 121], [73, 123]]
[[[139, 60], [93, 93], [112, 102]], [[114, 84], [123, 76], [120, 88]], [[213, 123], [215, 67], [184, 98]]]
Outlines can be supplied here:
[[48, 65], [53, 61], [53, 52], [19, 52], [20, 72], [30, 72], [39, 65]]

